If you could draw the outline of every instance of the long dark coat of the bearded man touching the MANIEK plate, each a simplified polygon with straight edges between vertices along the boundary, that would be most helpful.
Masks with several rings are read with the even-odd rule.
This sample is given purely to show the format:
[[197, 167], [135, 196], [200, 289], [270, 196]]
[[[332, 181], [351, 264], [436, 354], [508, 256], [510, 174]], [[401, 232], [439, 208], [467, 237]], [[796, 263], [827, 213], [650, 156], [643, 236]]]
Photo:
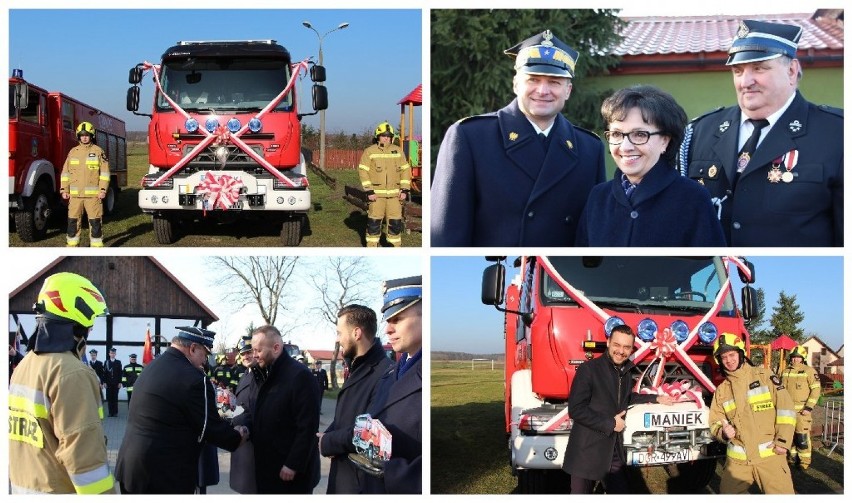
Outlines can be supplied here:
[[[577, 368], [568, 396], [568, 415], [574, 420], [562, 469], [588, 480], [603, 480], [612, 464], [616, 445], [623, 445], [615, 433], [615, 415], [632, 403], [652, 403], [657, 395], [631, 391], [633, 379], [628, 360], [619, 371], [609, 353]], [[629, 412], [628, 412], [629, 414]], [[621, 447], [619, 447], [621, 448]]]

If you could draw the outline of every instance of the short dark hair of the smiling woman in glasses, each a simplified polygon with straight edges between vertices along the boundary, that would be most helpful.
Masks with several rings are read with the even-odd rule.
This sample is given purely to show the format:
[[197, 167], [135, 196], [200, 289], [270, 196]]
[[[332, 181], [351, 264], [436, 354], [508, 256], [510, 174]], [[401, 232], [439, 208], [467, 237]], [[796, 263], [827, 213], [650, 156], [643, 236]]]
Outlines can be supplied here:
[[604, 127], [615, 121], [622, 121], [630, 110], [638, 108], [642, 120], [656, 126], [664, 136], [669, 137], [669, 145], [663, 158], [670, 165], [675, 164], [683, 131], [686, 127], [686, 112], [671, 94], [648, 85], [635, 85], [619, 89], [601, 104], [601, 116]]

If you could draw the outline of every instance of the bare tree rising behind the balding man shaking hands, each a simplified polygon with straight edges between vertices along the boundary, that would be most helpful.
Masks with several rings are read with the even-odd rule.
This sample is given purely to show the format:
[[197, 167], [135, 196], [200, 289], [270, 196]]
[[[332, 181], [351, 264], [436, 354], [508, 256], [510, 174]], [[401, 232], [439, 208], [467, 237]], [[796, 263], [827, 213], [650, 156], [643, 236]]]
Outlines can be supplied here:
[[[234, 311], [254, 305], [264, 324], [276, 326], [279, 315], [286, 313], [284, 306], [296, 297], [297, 288], [292, 282], [298, 276], [299, 257], [220, 256], [210, 260], [221, 272], [219, 284], [229, 285], [224, 299], [237, 306]], [[302, 325], [304, 321], [286, 323], [286, 327], [278, 328], [286, 337]]]

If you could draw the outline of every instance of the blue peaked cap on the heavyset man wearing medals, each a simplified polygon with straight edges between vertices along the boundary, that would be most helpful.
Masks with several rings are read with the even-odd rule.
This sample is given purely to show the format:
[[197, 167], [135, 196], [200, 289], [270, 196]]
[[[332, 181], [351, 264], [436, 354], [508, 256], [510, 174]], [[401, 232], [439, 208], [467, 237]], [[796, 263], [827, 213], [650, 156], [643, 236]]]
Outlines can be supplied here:
[[781, 56], [795, 58], [801, 37], [801, 26], [743, 20], [725, 64], [754, 63]]

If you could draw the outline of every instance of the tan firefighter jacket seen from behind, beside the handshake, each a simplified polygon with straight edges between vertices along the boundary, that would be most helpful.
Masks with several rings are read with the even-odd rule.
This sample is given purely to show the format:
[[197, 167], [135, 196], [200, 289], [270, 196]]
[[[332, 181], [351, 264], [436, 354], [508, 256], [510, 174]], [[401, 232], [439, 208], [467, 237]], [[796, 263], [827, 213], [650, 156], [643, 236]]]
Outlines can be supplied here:
[[9, 386], [12, 493], [115, 493], [95, 371], [70, 351], [28, 353]]

